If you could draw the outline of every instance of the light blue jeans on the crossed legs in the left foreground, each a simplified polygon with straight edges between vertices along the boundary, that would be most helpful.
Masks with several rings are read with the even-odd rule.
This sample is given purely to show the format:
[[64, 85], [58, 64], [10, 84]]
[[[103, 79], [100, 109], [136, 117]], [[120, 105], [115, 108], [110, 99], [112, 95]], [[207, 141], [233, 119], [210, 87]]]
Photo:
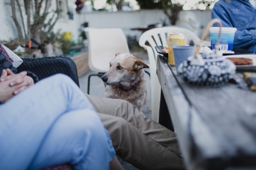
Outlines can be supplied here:
[[0, 105], [0, 169], [41, 169], [70, 162], [109, 169], [115, 151], [86, 96], [55, 75]]

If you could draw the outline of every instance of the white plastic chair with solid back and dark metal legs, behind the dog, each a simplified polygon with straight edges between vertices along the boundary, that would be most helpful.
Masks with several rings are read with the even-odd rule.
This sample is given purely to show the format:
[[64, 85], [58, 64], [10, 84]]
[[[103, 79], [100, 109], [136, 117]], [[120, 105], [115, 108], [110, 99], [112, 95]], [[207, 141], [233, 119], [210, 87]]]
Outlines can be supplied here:
[[110, 68], [110, 61], [116, 53], [130, 53], [125, 35], [120, 28], [92, 29], [89, 36], [89, 68], [99, 72], [88, 77], [88, 89], [90, 91], [91, 76], [103, 76]]

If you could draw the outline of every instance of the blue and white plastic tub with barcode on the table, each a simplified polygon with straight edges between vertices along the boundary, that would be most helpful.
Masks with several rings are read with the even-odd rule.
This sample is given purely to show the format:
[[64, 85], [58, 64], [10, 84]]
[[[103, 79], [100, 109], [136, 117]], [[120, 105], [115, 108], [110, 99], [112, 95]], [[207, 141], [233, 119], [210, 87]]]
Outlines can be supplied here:
[[[215, 49], [215, 45], [219, 38], [220, 27], [210, 27], [210, 44], [211, 50]], [[234, 33], [236, 33], [236, 28], [222, 27], [221, 28], [221, 40], [220, 40], [220, 50], [232, 51], [234, 42]]]

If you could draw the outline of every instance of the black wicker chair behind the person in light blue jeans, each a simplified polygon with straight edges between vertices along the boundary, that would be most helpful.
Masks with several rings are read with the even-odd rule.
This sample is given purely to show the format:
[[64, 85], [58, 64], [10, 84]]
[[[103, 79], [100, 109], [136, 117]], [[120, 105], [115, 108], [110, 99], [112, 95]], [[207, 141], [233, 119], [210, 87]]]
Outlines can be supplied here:
[[[77, 68], [75, 62], [66, 56], [44, 57], [36, 59], [23, 58], [23, 63], [18, 66], [18, 71], [32, 71], [39, 80], [62, 73], [69, 77], [79, 86]], [[70, 163], [48, 167], [44, 170], [74, 170]]]

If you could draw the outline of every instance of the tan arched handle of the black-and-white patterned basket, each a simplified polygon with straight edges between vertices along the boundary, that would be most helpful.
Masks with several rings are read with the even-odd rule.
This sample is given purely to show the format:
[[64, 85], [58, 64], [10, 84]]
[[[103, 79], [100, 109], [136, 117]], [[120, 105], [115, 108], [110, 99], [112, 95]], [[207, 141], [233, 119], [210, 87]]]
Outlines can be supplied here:
[[[219, 26], [220, 26], [220, 33], [219, 33], [219, 37], [218, 37], [218, 41], [216, 43], [216, 46], [219, 46], [220, 45], [220, 40], [221, 40], [221, 28], [222, 28], [222, 23], [221, 23], [221, 20], [218, 19], [218, 18], [215, 18], [215, 19], [212, 19], [206, 26], [206, 28], [204, 29], [204, 32], [203, 32], [203, 35], [201, 37], [201, 41], [200, 43], [198, 44], [198, 48], [196, 50], [196, 53], [195, 53], [195, 58], [197, 58], [197, 54], [199, 53], [199, 48], [202, 46], [202, 43], [203, 43], [203, 40], [205, 39], [207, 33], [208, 33], [208, 30], [209, 28], [214, 25], [214, 23], [218, 22], [219, 23]], [[216, 54], [217, 53], [217, 48], [215, 48], [215, 51], [214, 53]]]

